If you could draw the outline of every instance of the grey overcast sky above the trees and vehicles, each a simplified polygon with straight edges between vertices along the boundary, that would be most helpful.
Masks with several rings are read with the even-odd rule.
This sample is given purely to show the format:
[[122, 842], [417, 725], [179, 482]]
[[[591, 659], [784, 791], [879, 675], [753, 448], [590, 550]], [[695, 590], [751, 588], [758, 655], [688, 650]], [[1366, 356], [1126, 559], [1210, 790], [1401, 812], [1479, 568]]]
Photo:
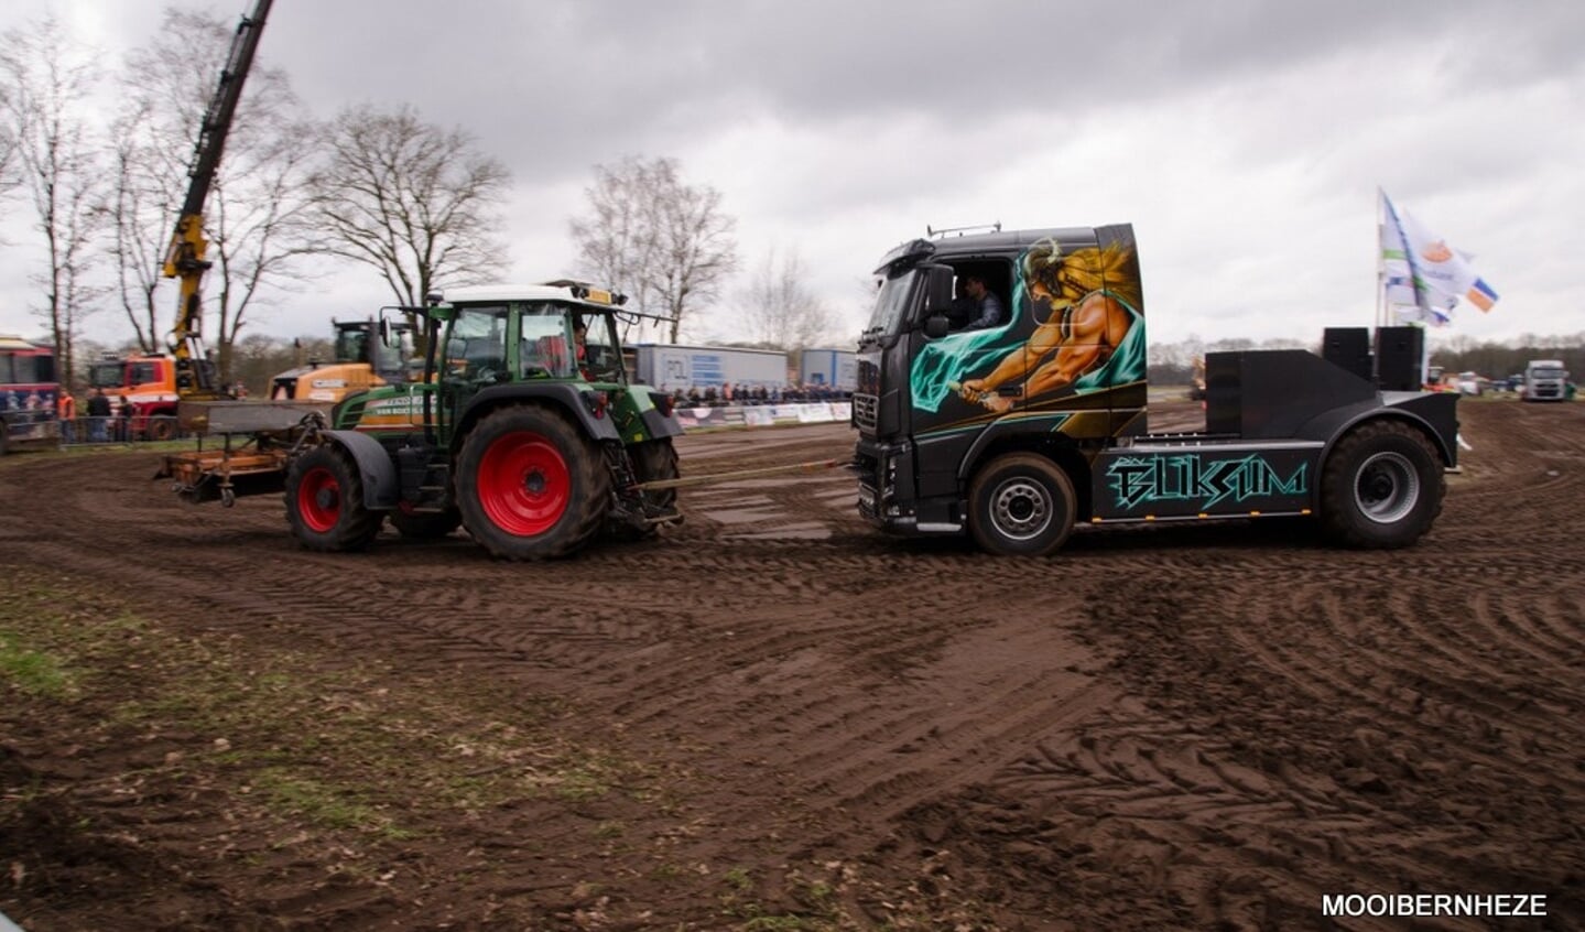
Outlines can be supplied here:
[[[114, 63], [165, 6], [10, 0], [0, 29], [52, 10]], [[1433, 346], [1585, 333], [1579, 0], [279, 0], [260, 59], [319, 117], [411, 103], [506, 162], [509, 281], [571, 271], [593, 165], [670, 155], [721, 192], [745, 268], [797, 249], [853, 333], [869, 271], [927, 225], [1132, 222], [1152, 341], [1319, 341], [1374, 319], [1381, 187], [1501, 295]], [[0, 331], [40, 333], [38, 236], [3, 209]], [[696, 338], [747, 336], [734, 290]], [[323, 334], [388, 301], [346, 268], [254, 320]], [[128, 336], [116, 314], [95, 327]]]

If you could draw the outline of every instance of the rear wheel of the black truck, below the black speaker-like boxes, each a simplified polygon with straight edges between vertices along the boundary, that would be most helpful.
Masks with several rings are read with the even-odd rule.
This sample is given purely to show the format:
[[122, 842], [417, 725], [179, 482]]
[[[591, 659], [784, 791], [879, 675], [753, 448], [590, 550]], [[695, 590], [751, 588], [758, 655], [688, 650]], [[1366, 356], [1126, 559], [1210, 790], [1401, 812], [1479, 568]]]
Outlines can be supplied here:
[[1320, 525], [1346, 547], [1407, 547], [1442, 510], [1447, 480], [1425, 434], [1376, 420], [1333, 447], [1320, 472]]

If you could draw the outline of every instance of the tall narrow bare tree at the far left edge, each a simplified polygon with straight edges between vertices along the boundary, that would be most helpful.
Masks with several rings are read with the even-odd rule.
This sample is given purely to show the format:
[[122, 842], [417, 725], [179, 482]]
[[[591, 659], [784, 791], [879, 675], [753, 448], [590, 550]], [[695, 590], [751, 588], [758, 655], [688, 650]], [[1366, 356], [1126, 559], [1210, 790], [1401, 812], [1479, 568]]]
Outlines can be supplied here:
[[60, 371], [71, 372], [78, 331], [98, 296], [89, 276], [103, 214], [86, 114], [98, 73], [89, 49], [48, 17], [0, 38], [0, 76], [6, 135], [46, 246], [48, 268], [32, 276], [44, 290], [38, 314], [49, 322]]

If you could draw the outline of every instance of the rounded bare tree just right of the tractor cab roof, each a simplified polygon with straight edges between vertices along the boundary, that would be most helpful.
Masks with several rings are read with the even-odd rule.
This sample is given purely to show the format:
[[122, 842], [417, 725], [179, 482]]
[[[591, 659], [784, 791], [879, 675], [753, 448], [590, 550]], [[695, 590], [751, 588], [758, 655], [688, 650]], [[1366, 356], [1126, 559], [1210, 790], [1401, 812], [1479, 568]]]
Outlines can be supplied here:
[[585, 189], [591, 216], [569, 222], [580, 269], [670, 319], [677, 342], [686, 315], [737, 269], [735, 220], [713, 187], [683, 182], [675, 159], [596, 165], [594, 179]]

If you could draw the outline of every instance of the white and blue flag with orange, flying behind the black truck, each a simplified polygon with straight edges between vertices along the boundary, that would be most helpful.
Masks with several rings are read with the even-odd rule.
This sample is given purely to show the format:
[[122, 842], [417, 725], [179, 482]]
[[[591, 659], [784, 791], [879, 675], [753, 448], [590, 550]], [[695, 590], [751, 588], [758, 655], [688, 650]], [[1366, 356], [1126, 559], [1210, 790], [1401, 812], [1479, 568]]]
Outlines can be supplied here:
[[1491, 311], [1496, 290], [1474, 273], [1468, 257], [1400, 211], [1385, 192], [1381, 200], [1382, 293], [1398, 319], [1442, 327], [1461, 300]]

